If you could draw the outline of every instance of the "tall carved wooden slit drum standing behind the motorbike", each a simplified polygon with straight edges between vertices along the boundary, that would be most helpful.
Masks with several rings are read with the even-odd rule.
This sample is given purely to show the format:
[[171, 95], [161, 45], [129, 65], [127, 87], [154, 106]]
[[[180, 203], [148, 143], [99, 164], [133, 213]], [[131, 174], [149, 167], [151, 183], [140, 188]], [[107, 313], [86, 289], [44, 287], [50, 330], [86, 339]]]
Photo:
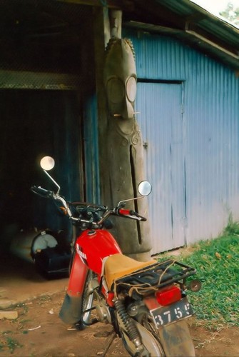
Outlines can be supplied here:
[[[135, 116], [136, 62], [133, 44], [128, 39], [112, 38], [106, 48], [104, 84], [108, 101], [106, 129], [111, 205], [137, 196], [145, 179], [141, 130]], [[129, 201], [127, 208], [148, 216], [147, 200]], [[113, 221], [113, 234], [123, 253], [143, 260], [151, 250], [148, 221]], [[127, 232], [127, 233], [126, 233]]]

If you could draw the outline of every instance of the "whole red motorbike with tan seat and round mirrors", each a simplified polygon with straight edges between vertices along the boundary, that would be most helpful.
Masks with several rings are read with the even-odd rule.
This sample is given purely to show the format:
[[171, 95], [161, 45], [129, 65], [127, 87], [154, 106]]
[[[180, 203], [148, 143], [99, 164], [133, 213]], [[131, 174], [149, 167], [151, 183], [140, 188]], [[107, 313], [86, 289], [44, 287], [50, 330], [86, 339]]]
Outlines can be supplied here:
[[[50, 164], [50, 166], [49, 166]], [[60, 186], [47, 170], [54, 160], [41, 161], [57, 191], [33, 186], [34, 193], [60, 203], [75, 227], [68, 289], [60, 311], [65, 323], [83, 330], [93, 323], [111, 323], [131, 356], [195, 356], [186, 319], [193, 315], [185, 290], [200, 289], [200, 281], [186, 278], [195, 269], [175, 260], [159, 263], [136, 261], [123, 255], [108, 231], [108, 218], [146, 221], [120, 201], [113, 209], [89, 203], [68, 203], [59, 195]], [[151, 184], [138, 185], [140, 199], [151, 193]]]

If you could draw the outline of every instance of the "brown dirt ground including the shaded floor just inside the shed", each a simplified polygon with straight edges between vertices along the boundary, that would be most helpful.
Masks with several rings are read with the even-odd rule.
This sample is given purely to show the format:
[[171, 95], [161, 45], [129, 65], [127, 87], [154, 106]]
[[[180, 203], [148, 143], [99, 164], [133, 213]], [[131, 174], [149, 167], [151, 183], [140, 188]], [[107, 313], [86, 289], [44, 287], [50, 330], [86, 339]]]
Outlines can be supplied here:
[[[0, 312], [17, 311], [18, 318], [0, 320], [0, 357], [104, 356], [108, 345], [106, 356], [128, 356], [119, 338], [110, 343], [110, 325], [96, 323], [76, 331], [60, 320], [67, 278], [46, 281], [33, 264], [14, 258], [4, 264], [1, 258]], [[196, 356], [239, 357], [239, 328], [220, 326], [218, 331], [209, 331], [206, 323], [194, 317], [188, 323]]]

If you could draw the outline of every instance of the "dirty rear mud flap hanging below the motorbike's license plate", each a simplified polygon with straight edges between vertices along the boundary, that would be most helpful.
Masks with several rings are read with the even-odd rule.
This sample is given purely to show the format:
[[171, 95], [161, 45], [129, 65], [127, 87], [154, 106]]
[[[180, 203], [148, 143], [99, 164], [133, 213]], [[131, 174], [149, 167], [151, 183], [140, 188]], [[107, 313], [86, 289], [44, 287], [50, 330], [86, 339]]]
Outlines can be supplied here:
[[185, 320], [159, 328], [158, 335], [166, 356], [195, 356], [193, 341]]

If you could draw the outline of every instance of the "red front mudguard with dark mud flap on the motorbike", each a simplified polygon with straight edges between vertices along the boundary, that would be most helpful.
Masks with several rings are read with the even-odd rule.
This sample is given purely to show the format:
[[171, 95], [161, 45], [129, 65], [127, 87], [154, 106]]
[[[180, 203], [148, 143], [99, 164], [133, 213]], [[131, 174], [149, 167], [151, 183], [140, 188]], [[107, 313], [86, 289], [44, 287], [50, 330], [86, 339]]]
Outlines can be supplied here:
[[83, 288], [88, 267], [76, 253], [73, 258], [68, 289], [59, 316], [64, 323], [77, 323], [81, 318]]

